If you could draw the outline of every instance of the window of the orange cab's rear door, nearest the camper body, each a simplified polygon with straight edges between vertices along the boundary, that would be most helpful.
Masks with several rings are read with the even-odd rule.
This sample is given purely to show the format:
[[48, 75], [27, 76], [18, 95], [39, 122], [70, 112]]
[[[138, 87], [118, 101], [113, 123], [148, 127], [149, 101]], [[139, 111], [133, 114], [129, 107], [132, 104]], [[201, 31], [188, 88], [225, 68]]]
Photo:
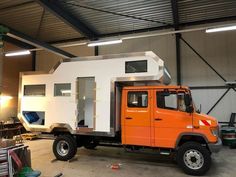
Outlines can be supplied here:
[[146, 108], [148, 106], [147, 92], [128, 92], [128, 107]]

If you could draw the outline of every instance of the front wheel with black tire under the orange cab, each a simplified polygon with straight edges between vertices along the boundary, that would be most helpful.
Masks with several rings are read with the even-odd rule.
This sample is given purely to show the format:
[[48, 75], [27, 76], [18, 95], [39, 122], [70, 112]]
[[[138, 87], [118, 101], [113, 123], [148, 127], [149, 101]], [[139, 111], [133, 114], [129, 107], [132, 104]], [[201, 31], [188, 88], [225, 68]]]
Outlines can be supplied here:
[[200, 176], [211, 166], [211, 154], [206, 147], [196, 142], [187, 142], [177, 151], [177, 163], [188, 175]]

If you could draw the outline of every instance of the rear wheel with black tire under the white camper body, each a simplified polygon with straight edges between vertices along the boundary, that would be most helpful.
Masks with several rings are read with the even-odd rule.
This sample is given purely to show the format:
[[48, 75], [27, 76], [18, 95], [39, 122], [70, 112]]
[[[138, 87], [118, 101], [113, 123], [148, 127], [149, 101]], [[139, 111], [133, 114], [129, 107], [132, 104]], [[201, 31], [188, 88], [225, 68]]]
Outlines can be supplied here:
[[67, 161], [77, 153], [75, 138], [71, 135], [60, 135], [53, 142], [53, 153], [58, 160]]

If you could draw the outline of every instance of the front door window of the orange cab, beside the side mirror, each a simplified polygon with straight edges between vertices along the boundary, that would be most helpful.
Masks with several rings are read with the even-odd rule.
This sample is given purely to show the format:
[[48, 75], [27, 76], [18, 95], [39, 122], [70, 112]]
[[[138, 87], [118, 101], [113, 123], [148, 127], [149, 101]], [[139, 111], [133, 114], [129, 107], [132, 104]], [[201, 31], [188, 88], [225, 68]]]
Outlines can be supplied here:
[[184, 101], [184, 92], [156, 92], [157, 107], [169, 110], [186, 111], [186, 104]]

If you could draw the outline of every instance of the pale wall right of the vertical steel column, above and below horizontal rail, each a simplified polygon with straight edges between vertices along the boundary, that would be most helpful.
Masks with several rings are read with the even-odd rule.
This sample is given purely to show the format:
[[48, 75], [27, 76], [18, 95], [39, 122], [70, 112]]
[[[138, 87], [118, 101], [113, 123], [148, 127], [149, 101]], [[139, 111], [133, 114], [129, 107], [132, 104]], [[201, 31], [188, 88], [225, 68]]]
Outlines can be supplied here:
[[[207, 34], [203, 31], [183, 34], [183, 38], [227, 81], [236, 80], [236, 32]], [[182, 81], [189, 86], [223, 86], [225, 82], [217, 76], [199, 57], [181, 42]], [[202, 105], [207, 113], [226, 89], [193, 90], [196, 106]], [[231, 112], [236, 112], [236, 92], [231, 91], [213, 109], [210, 115], [219, 121], [228, 121]]]

